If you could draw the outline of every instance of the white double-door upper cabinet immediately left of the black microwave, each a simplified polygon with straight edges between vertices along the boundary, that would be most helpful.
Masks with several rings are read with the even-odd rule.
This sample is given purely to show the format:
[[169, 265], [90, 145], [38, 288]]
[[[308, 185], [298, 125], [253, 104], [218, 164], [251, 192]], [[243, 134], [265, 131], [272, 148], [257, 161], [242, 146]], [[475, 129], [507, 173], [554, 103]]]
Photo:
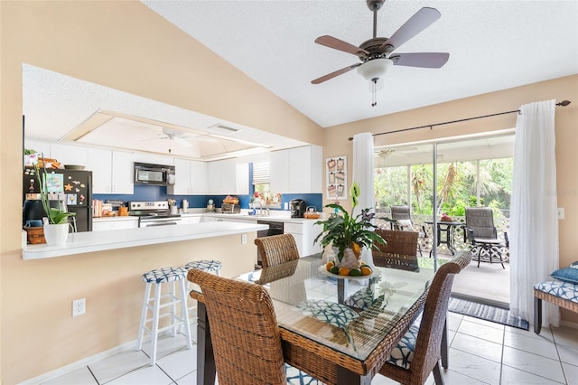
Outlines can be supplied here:
[[87, 170], [92, 171], [92, 193], [132, 194], [133, 153], [89, 148]]

